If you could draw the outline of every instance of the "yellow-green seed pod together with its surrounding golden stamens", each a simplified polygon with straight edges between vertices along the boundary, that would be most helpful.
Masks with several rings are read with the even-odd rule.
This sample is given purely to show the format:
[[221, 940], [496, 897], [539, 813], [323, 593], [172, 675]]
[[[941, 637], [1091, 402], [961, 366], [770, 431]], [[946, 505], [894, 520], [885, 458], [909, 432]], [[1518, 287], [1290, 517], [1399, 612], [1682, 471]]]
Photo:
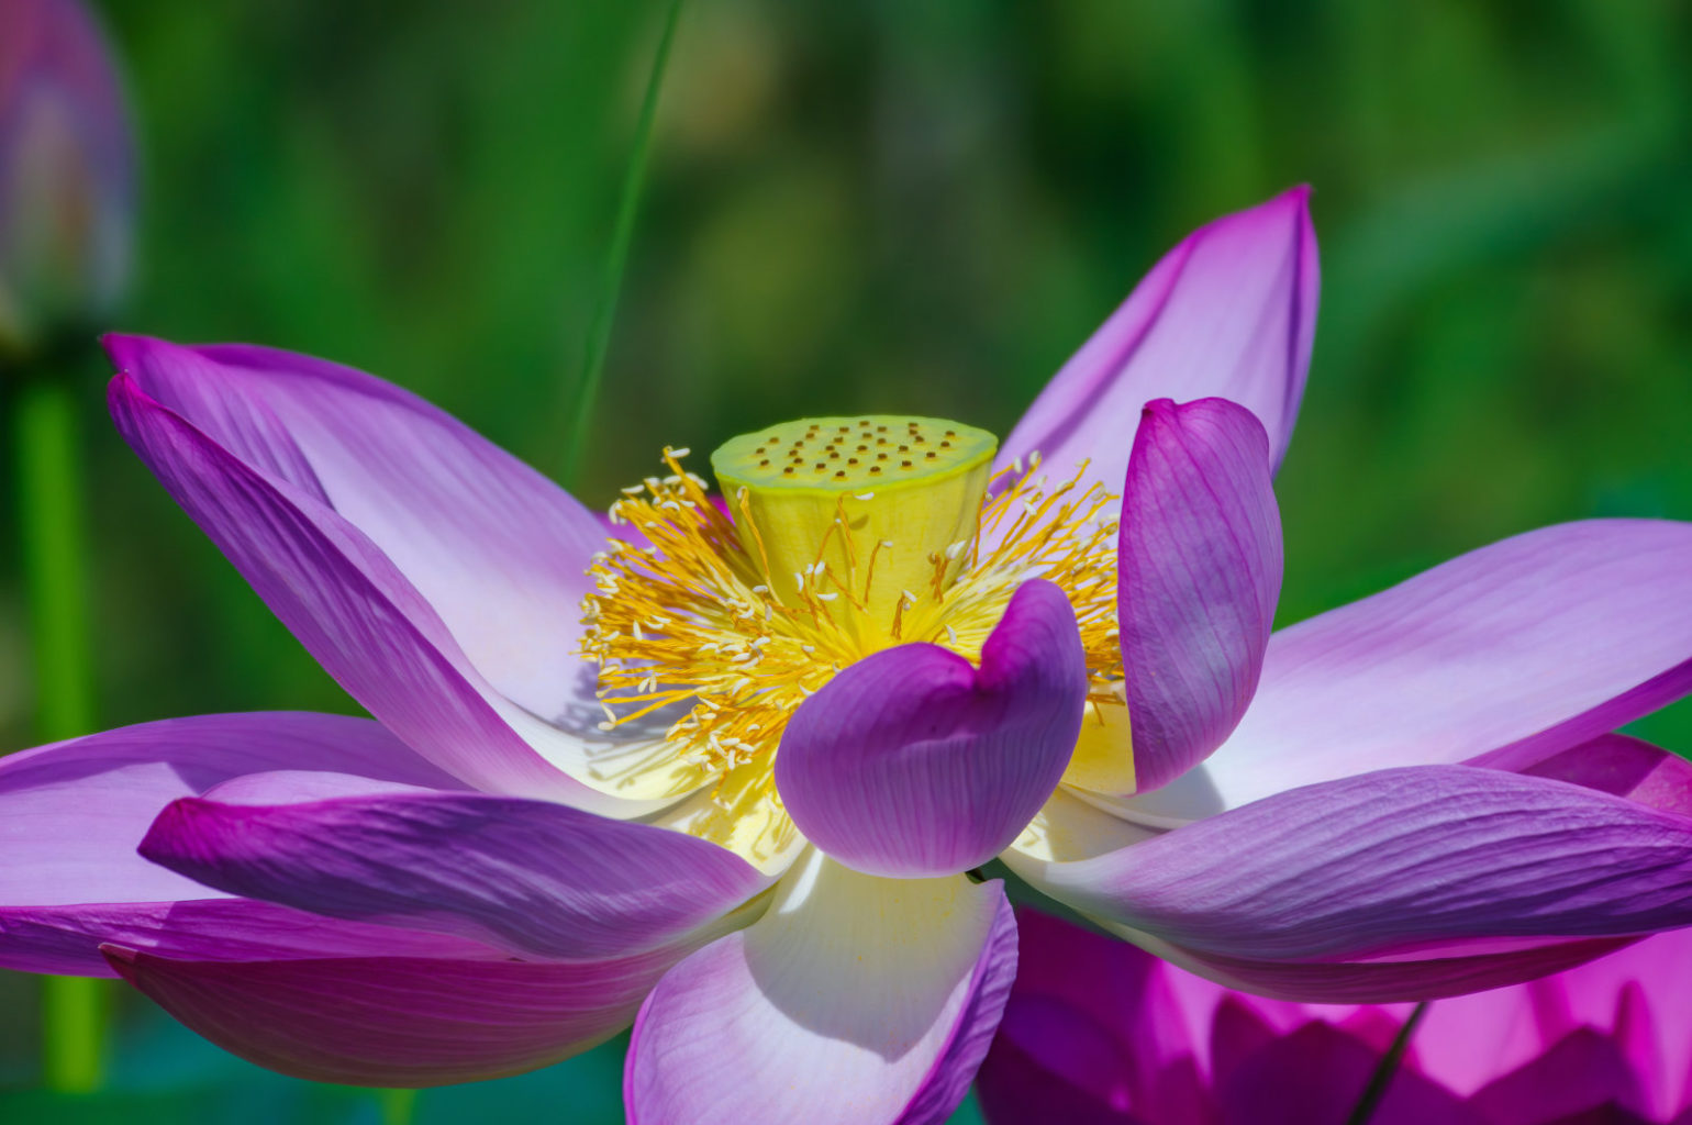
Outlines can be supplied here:
[[794, 709], [892, 645], [978, 661], [1030, 577], [1069, 595], [1093, 707], [1125, 719], [1113, 497], [1079, 472], [1049, 491], [1020, 464], [990, 479], [995, 447], [926, 418], [787, 423], [712, 455], [721, 502], [684, 470], [687, 450], [665, 450], [670, 474], [611, 506], [638, 535], [596, 557], [582, 639], [601, 727], [663, 729], [597, 780], [636, 798], [694, 793], [673, 827], [782, 863], [802, 842], [772, 778]]

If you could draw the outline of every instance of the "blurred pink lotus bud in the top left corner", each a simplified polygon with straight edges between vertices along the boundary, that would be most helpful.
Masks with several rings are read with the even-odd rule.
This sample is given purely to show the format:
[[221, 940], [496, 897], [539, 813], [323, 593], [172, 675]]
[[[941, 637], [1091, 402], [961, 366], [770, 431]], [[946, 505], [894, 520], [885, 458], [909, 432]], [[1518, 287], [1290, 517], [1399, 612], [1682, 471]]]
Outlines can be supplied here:
[[0, 0], [0, 352], [105, 315], [129, 272], [135, 149], [76, 0]]

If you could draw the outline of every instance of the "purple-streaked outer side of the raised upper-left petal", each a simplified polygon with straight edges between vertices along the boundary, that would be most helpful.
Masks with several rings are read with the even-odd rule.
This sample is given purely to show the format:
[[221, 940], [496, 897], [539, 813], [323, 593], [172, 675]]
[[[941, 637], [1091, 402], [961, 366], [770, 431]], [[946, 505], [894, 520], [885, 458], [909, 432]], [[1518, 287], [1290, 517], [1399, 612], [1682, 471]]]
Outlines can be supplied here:
[[[112, 347], [120, 362], [140, 362], [127, 352], [132, 342]], [[188, 355], [217, 370], [193, 352], [159, 347], [173, 360]], [[215, 374], [201, 379], [213, 381]], [[274, 425], [259, 430], [272, 443], [247, 450], [267, 469], [261, 472], [149, 398], [127, 370], [113, 377], [110, 398], [118, 430], [272, 612], [342, 687], [418, 753], [479, 788], [553, 797], [613, 814], [634, 804], [572, 782], [525, 741], [523, 733], [547, 744], [569, 736], [499, 695], [459, 648], [437, 607], [362, 530], [323, 502], [321, 486], [293, 480], [303, 479], [306, 469], [288, 467], [301, 453], [286, 431]], [[259, 425], [240, 418], [242, 426]], [[442, 533], [452, 526], [443, 523]], [[460, 577], [470, 582], [467, 573]], [[560, 628], [572, 631], [574, 617]]]

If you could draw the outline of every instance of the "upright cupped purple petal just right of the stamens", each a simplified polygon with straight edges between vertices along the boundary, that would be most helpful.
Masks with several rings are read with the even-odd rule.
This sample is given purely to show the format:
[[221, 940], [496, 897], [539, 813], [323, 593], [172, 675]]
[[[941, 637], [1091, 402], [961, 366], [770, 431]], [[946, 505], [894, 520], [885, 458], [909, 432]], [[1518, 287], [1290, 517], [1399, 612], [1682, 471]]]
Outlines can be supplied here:
[[1201, 761], [1257, 689], [1281, 597], [1262, 425], [1225, 399], [1145, 408], [1122, 491], [1122, 665], [1140, 792]]

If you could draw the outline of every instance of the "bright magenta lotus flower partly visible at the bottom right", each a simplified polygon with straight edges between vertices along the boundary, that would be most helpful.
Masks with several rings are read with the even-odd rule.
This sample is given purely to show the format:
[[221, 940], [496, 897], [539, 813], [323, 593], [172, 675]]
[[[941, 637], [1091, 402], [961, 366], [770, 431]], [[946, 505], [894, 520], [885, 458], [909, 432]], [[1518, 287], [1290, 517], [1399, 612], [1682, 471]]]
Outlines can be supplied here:
[[1684, 930], [1413, 1017], [1262, 1000], [1032, 910], [1017, 922], [978, 1083], [990, 1125], [1347, 1125], [1371, 1084], [1371, 1125], [1692, 1120]]

